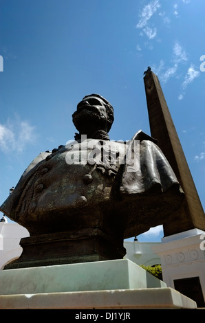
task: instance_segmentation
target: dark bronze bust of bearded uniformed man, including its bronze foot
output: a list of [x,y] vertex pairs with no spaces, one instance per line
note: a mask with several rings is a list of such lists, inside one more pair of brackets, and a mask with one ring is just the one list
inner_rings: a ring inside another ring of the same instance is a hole
[[86,96],[72,117],[74,142],[36,157],[1,205],[30,232],[21,239],[20,258],[6,269],[123,258],[124,238],[163,224],[183,203],[152,137],[138,131],[129,142],[131,154],[139,144],[138,168],[128,163],[127,143],[109,140],[114,109],[105,98]]

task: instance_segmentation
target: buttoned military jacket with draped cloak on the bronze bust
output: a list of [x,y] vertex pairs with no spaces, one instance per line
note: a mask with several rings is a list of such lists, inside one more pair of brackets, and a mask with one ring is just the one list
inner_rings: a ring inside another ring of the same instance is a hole
[[112,219],[127,238],[162,224],[182,199],[169,162],[155,140],[139,131],[128,143],[89,139],[40,153],[1,211],[31,235],[106,230],[106,219]]

